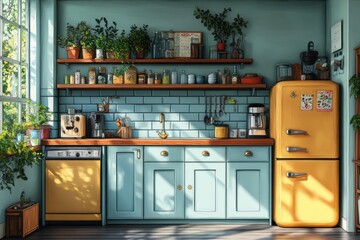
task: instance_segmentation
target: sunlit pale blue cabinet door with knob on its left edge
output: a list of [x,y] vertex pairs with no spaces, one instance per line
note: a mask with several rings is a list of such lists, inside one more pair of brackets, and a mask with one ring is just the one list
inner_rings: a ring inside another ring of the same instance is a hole
[[185,163],[185,218],[225,218],[225,163]]

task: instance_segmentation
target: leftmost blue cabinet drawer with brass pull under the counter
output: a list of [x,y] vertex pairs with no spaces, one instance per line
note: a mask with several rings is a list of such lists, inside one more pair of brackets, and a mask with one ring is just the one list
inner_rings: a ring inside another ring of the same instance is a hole
[[145,147],[145,162],[183,162],[184,147],[151,146]]

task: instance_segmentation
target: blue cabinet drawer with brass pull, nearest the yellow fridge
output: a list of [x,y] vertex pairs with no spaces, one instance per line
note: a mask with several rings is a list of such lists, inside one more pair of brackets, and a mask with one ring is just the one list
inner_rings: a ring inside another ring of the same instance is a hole
[[239,146],[227,147],[228,162],[239,161],[258,161],[268,162],[271,159],[271,149],[269,146]]

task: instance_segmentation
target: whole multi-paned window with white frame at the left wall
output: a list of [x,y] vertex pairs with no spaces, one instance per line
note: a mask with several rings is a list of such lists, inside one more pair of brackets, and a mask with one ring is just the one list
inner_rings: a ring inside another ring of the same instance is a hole
[[29,1],[1,0],[0,132],[21,114],[29,97]]

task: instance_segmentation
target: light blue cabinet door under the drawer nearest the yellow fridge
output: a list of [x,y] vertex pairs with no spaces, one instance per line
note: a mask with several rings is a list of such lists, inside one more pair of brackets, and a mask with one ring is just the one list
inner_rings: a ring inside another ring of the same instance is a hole
[[269,218],[269,183],[268,163],[228,163],[227,218]]

